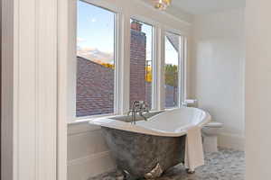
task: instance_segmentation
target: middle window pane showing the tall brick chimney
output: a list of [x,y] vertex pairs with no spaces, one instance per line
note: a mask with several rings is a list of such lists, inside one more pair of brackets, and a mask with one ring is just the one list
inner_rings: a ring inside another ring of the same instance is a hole
[[131,19],[130,106],[145,101],[153,106],[153,26]]

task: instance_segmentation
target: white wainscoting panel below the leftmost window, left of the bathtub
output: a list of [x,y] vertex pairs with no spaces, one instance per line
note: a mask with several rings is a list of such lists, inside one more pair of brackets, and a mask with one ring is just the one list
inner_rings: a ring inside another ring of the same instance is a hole
[[88,180],[116,168],[98,126],[88,122],[68,126],[68,180]]

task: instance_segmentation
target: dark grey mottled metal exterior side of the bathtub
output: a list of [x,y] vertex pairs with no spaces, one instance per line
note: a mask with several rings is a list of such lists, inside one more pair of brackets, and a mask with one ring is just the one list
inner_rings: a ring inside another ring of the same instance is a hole
[[161,137],[102,127],[117,168],[143,177],[157,163],[163,171],[183,162],[185,136]]

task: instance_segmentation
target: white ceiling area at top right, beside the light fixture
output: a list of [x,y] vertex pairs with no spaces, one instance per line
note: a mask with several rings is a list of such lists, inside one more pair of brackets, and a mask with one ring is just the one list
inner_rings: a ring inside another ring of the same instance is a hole
[[209,14],[245,7],[246,0],[172,0],[173,7],[189,14]]

